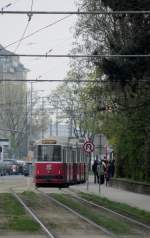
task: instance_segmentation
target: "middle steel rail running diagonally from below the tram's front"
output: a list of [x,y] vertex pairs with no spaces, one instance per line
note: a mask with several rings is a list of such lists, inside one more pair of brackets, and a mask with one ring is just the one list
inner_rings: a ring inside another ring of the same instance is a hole
[[67,205],[64,205],[63,203],[61,203],[60,201],[56,200],[55,198],[51,197],[50,195],[47,195],[46,193],[44,193],[43,191],[40,191],[39,189],[37,189],[39,193],[43,194],[43,196],[47,197],[49,200],[55,202],[56,204],[58,204],[59,206],[65,208],[66,210],[68,210],[69,212],[73,213],[74,215],[80,217],[82,220],[88,222],[89,224],[93,225],[94,227],[98,228],[99,230],[103,231],[105,234],[116,238],[116,236],[114,235],[114,233],[110,232],[109,230],[105,229],[104,227],[98,225],[97,223],[93,222],[92,220],[88,219],[87,217],[81,215],[80,213],[76,212],[75,210],[73,210],[72,208],[68,207]]

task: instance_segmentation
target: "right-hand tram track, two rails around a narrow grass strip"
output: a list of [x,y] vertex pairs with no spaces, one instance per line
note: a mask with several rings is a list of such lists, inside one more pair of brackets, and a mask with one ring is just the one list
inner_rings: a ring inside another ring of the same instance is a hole
[[[122,223],[126,223],[127,225],[128,225],[128,229],[130,230],[129,231],[129,233],[128,233],[128,235],[126,235],[125,237],[136,237],[136,238],[138,238],[138,237],[145,237],[145,238],[148,238],[148,237],[150,237],[149,236],[149,232],[150,232],[150,226],[148,226],[148,225],[146,225],[146,224],[144,224],[144,223],[141,223],[141,222],[139,222],[139,221],[137,221],[137,220],[135,220],[135,219],[133,219],[133,218],[130,218],[130,217],[127,217],[127,216],[125,216],[125,215],[122,215],[122,214],[120,214],[120,213],[117,213],[117,212],[114,212],[114,211],[112,211],[111,209],[108,209],[108,208],[105,208],[105,207],[102,207],[102,206],[99,206],[99,205],[97,205],[97,204],[95,204],[95,203],[93,203],[93,202],[90,202],[90,201],[88,201],[88,200],[86,200],[86,199],[83,199],[83,198],[81,198],[79,195],[77,195],[75,192],[72,192],[72,191],[70,191],[70,189],[63,189],[62,190],[63,191],[63,193],[67,196],[67,198],[70,196],[70,199],[73,199],[73,200],[77,200],[80,204],[82,204],[82,205],[84,205],[84,206],[86,206],[86,208],[87,208],[87,206],[88,206],[88,209],[89,209],[89,212],[90,212],[90,210],[94,210],[94,213],[97,213],[97,212],[99,212],[99,214],[100,214],[100,216],[101,216],[101,214],[102,214],[102,216],[104,215],[106,215],[106,217],[109,219],[113,219],[114,221],[116,220],[117,222],[118,222],[118,225],[119,225],[119,223],[120,222],[122,222]],[[39,190],[39,192],[41,192],[40,190]],[[54,198],[52,197],[52,196],[50,196],[49,194],[45,194],[44,192],[42,192],[42,194],[44,195],[44,196],[46,196],[46,197],[48,197],[50,200],[53,200]],[[102,225],[99,225],[99,224],[97,224],[95,221],[93,222],[93,220],[91,221],[90,219],[88,219],[87,217],[85,217],[85,216],[83,216],[83,215],[81,215],[81,213],[80,213],[80,211],[78,211],[79,209],[72,209],[72,208],[70,208],[70,206],[68,207],[68,206],[66,206],[66,203],[65,203],[65,205],[61,202],[60,203],[60,201],[56,201],[56,199],[54,199],[55,200],[55,202],[57,202],[58,204],[60,204],[61,206],[64,206],[66,209],[68,209],[69,211],[71,211],[71,212],[73,212],[73,213],[75,213],[76,215],[78,215],[78,216],[80,216],[80,217],[82,217],[82,219],[85,219],[85,220],[87,220],[89,223],[91,222],[91,224],[94,224],[95,226],[98,226],[98,228],[99,229],[102,229],[106,234],[108,234],[109,236],[111,236],[111,237],[124,237],[124,235],[125,234],[121,234],[121,233],[123,233],[123,232],[120,232],[120,234],[117,234],[117,232],[118,231],[116,231],[116,233],[114,234],[112,231],[111,231],[111,228],[110,229],[106,229],[106,228],[104,228],[105,227],[105,225],[104,226],[102,226]],[[58,199],[59,200],[59,199]],[[79,204],[79,206],[80,206],[80,204]],[[86,204],[86,205],[85,205]],[[103,216],[103,217],[104,217]],[[105,217],[104,217],[104,219],[105,219]],[[102,222],[102,224],[103,224],[103,222]],[[110,226],[111,227],[111,226]]]

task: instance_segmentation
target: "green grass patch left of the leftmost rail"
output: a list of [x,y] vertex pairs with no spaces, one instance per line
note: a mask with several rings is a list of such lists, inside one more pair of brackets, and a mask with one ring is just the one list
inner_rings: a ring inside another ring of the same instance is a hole
[[0,194],[0,229],[35,232],[40,226],[11,194]]

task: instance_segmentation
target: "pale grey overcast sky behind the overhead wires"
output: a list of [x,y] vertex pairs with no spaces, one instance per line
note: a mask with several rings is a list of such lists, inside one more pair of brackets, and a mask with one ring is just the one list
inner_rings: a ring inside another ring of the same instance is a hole
[[[5,6],[11,3],[9,7]],[[0,0],[0,8],[4,10],[27,10],[31,9],[32,0]],[[76,10],[74,0],[34,0],[33,10],[35,11],[73,11]],[[66,15],[33,15],[28,25],[25,36],[45,27]],[[23,54],[46,54],[52,50],[52,54],[67,54],[72,48],[73,26],[76,16],[72,15],[65,20],[48,27],[32,37],[21,41],[16,53]],[[25,31],[28,23],[26,15],[0,15],[1,38],[0,44],[4,47],[19,40]],[[18,44],[7,49],[14,52]],[[68,70],[69,59],[65,58],[20,58],[20,61],[30,70],[28,79],[56,79],[65,77]],[[56,84],[38,83],[34,86],[37,89],[52,89]]]

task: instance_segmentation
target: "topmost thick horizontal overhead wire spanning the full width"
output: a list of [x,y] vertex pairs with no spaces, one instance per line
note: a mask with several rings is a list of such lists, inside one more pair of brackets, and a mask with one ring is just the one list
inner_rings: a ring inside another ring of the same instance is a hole
[[150,14],[149,10],[126,10],[126,11],[7,11],[1,10],[1,14],[26,14],[29,16],[32,15],[62,15],[62,14],[71,14],[71,15],[118,15],[118,14]]

